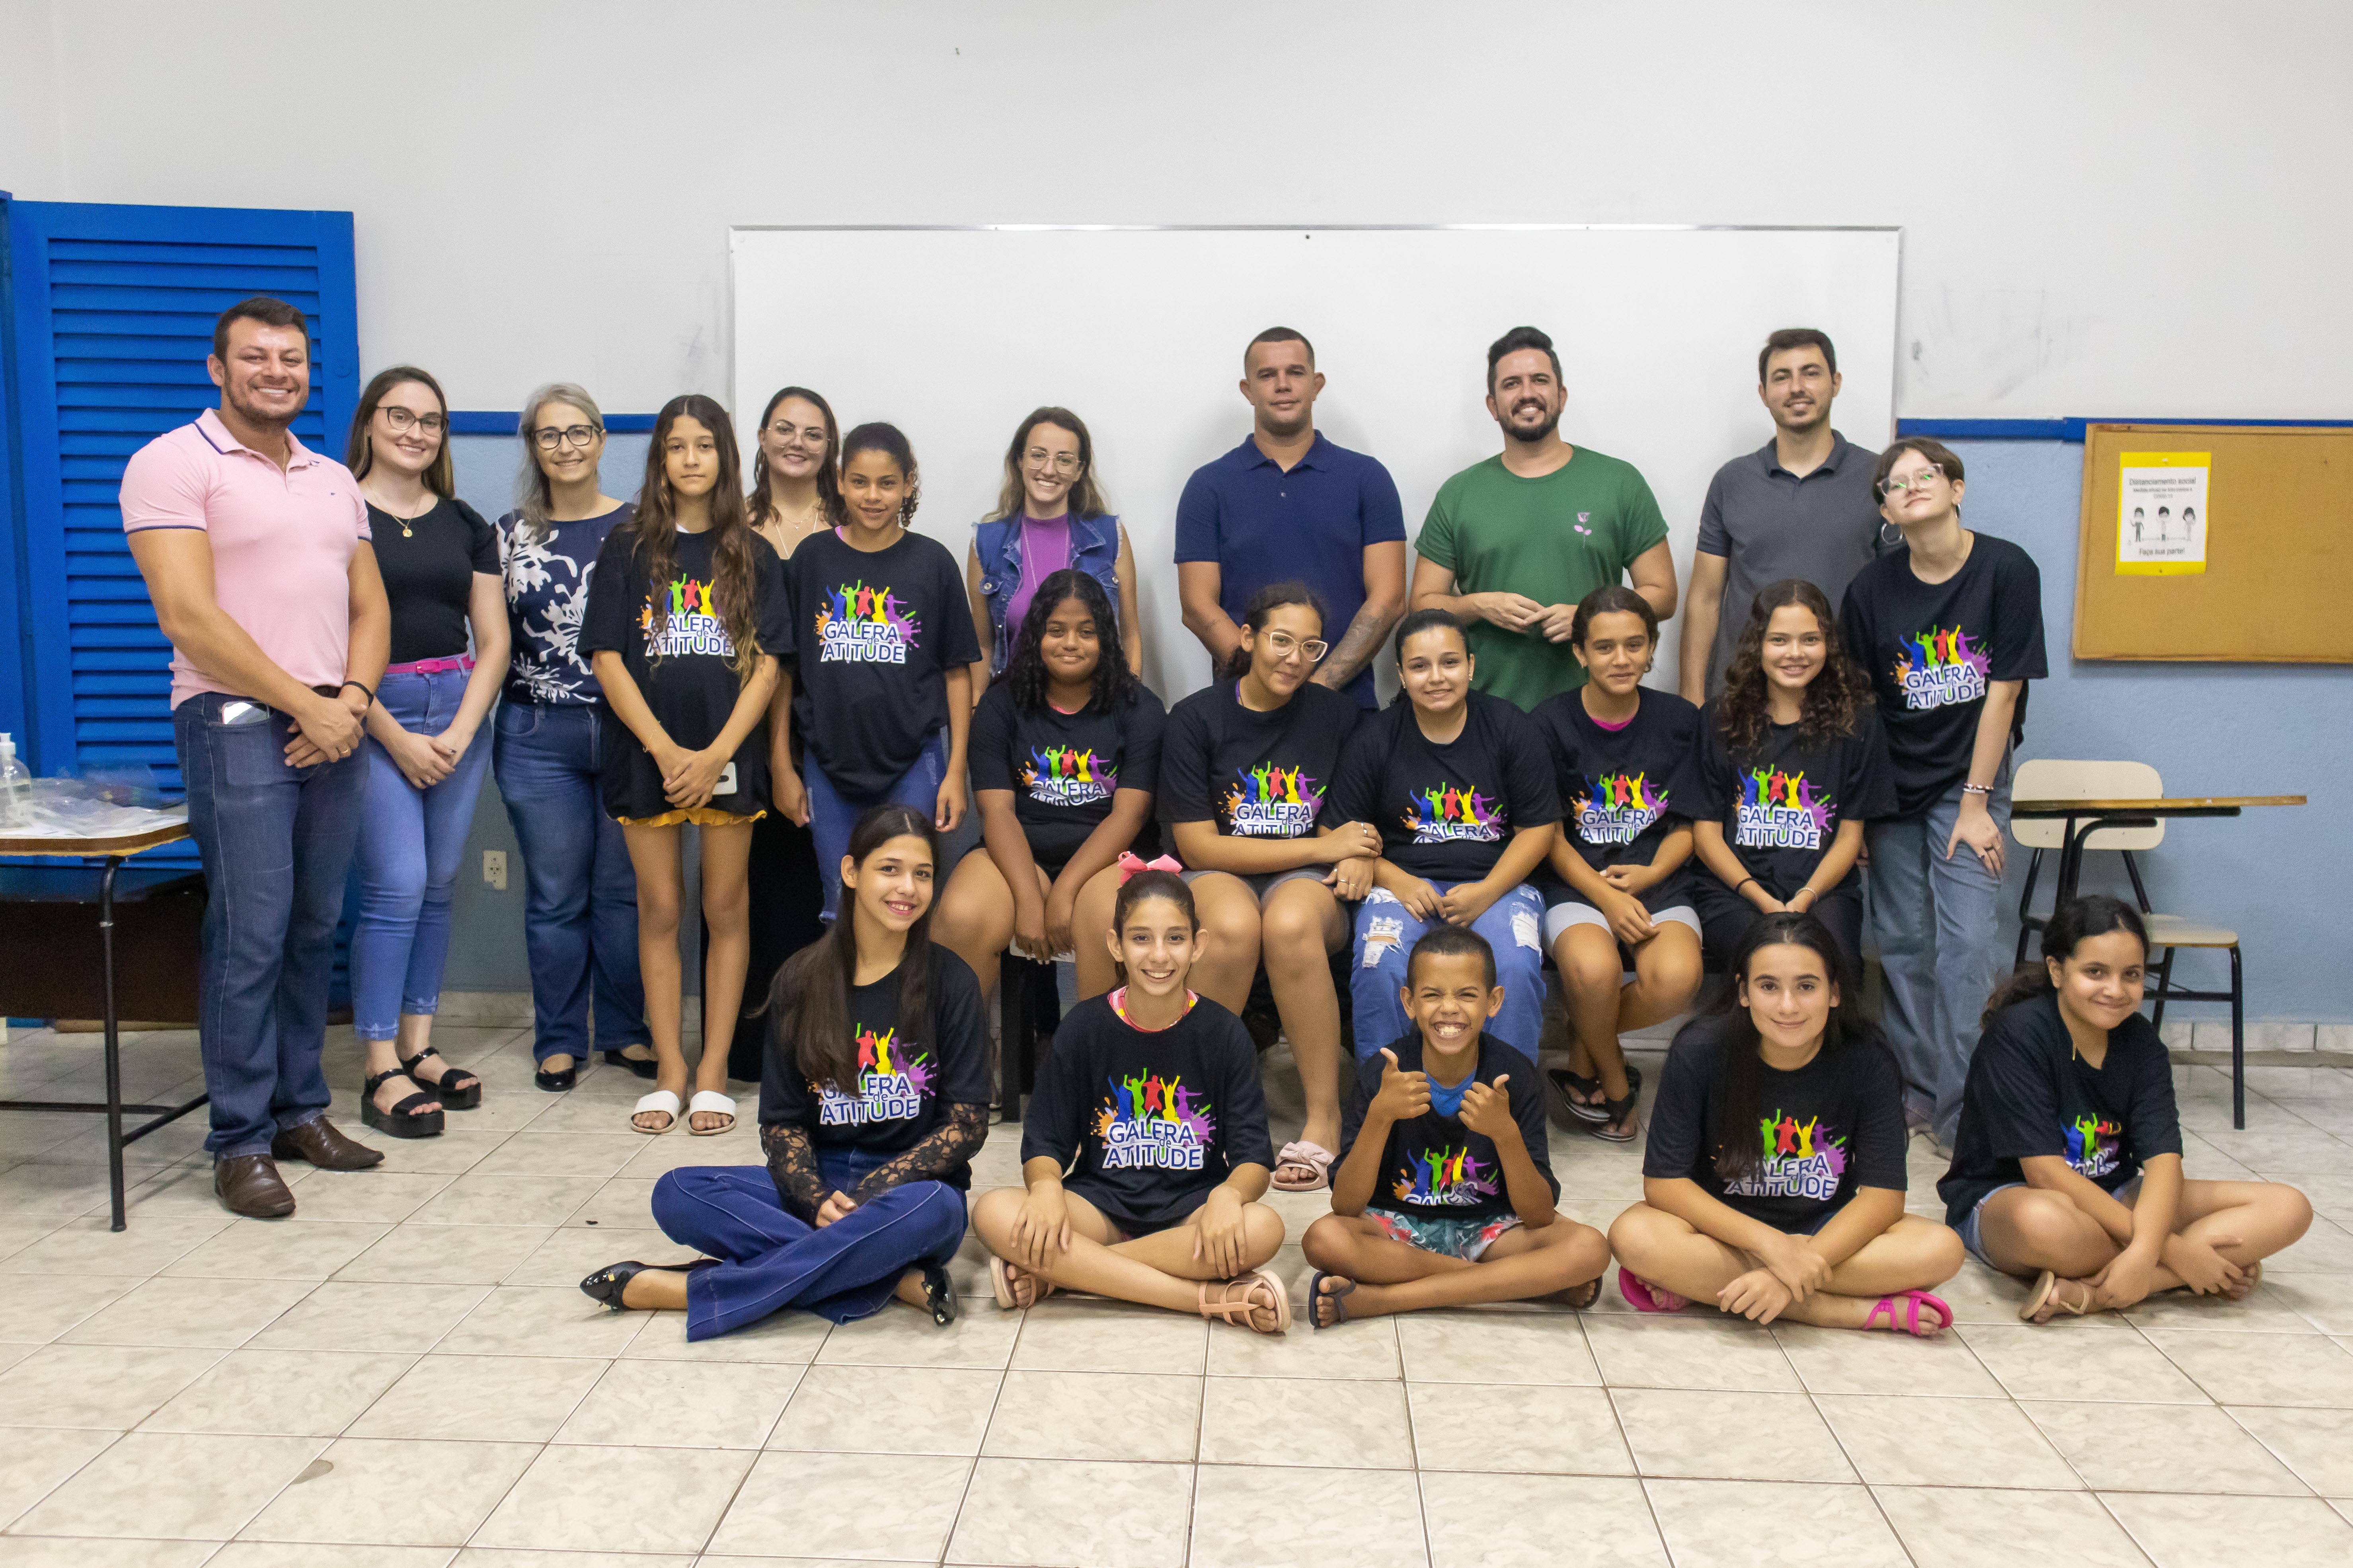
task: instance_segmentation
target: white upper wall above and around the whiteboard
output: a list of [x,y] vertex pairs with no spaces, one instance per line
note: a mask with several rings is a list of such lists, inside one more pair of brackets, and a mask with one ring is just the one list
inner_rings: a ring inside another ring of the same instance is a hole
[[2344,0],[0,0],[0,188],[348,207],[461,407],[725,393],[732,223],[1654,221],[1901,223],[1899,414],[2344,416],[2348,61]]

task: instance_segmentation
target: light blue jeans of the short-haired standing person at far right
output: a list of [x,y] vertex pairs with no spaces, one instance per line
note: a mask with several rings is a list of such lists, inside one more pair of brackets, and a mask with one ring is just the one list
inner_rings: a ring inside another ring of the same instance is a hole
[[[2009,832],[2009,759],[1986,797],[1993,825]],[[1960,818],[1960,785],[1927,816],[1871,823],[1871,936],[1887,976],[1880,1027],[1904,1070],[1904,1105],[1927,1117],[1944,1147],[1960,1128],[1960,1088],[1977,1053],[1977,1018],[2002,978],[2002,879],[1967,846],[1944,858]]]

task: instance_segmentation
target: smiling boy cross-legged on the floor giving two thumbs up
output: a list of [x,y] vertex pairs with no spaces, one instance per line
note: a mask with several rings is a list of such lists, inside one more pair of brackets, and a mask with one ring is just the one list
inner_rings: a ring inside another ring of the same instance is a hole
[[1301,1239],[1318,1328],[1351,1316],[1558,1300],[1591,1307],[1609,1241],[1553,1211],[1537,1063],[1485,1025],[1494,947],[1433,926],[1405,959],[1412,1032],[1358,1067],[1332,1213]]

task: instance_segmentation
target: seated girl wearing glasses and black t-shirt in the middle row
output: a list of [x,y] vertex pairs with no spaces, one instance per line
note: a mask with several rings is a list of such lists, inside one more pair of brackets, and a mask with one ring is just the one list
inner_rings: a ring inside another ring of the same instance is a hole
[[1329,1185],[1339,1147],[1339,990],[1329,954],[1372,886],[1381,832],[1334,823],[1325,792],[1358,722],[1353,696],[1313,679],[1325,614],[1306,583],[1268,583],[1207,691],[1169,712],[1160,820],[1200,900],[1200,990],[1240,1013],[1266,987],[1299,1060],[1306,1126],[1275,1154],[1275,1187]]

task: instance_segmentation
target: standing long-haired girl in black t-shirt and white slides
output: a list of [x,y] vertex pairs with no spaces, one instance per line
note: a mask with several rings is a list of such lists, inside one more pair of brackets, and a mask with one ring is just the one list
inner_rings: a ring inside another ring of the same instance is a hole
[[605,731],[605,809],[638,872],[638,969],[654,1037],[654,1093],[631,1126],[696,1135],[734,1126],[727,1051],[706,1048],[692,1105],[678,1044],[678,830],[701,830],[704,1039],[727,1039],[744,1006],[751,825],[767,809],[767,701],[788,644],[784,569],[744,517],[734,425],[701,395],[673,397],[645,451],[645,489],[598,552],[581,646],[619,724]]

